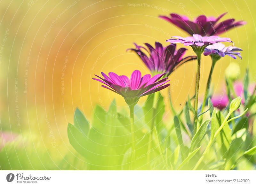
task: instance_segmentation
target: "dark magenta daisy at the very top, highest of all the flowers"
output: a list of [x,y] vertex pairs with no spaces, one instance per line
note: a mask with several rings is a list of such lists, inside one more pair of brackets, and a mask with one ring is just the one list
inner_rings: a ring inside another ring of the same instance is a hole
[[231,28],[244,25],[244,21],[235,21],[235,19],[226,19],[218,23],[218,21],[226,13],[221,14],[219,17],[206,17],[205,15],[200,15],[194,20],[189,20],[186,16],[181,16],[176,13],[171,13],[170,17],[159,16],[160,18],[174,24],[175,26],[186,31],[188,34],[200,34],[202,36],[219,35],[223,32],[230,30]]

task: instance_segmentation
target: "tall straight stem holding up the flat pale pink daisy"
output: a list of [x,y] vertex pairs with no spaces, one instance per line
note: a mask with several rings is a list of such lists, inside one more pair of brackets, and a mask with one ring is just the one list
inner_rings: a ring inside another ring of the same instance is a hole
[[196,97],[195,97],[195,118],[194,118],[194,134],[197,130],[197,105],[198,105],[198,92],[199,92],[199,81],[200,81],[200,66],[201,66],[201,54],[202,52],[196,52],[197,56],[197,74],[196,74]]

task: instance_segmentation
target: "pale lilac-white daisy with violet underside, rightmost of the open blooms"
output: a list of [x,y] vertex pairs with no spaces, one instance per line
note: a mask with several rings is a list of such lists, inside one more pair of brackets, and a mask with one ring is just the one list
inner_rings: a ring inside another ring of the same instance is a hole
[[228,46],[226,47],[222,43],[216,43],[213,45],[210,45],[204,49],[204,55],[208,56],[210,54],[216,55],[217,57],[225,57],[226,55],[236,59],[236,56],[242,59],[241,53],[237,51],[243,51],[240,48],[234,47],[234,46]]

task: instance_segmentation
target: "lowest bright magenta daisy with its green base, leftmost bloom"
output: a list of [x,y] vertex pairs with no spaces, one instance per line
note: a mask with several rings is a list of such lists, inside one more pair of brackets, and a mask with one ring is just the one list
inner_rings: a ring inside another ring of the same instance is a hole
[[101,72],[101,74],[103,78],[95,75],[99,79],[92,79],[107,85],[101,85],[102,87],[123,96],[128,105],[136,105],[140,97],[152,94],[170,85],[165,84],[166,82],[170,81],[167,80],[167,77],[160,80],[160,78],[163,77],[166,72],[163,74],[157,74],[151,78],[150,74],[146,74],[141,77],[140,71],[135,70],[132,72],[130,79],[125,75],[119,76],[113,72],[108,73],[109,77],[103,72]]

